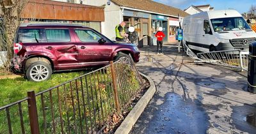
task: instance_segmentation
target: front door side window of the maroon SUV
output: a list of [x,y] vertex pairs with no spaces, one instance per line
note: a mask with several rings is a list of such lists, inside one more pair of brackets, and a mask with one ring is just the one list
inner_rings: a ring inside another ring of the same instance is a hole
[[83,42],[98,42],[102,36],[89,29],[76,29],[78,38]]

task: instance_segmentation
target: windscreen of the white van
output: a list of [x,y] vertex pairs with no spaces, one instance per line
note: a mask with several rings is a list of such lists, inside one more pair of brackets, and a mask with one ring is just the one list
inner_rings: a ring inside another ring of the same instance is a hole
[[215,32],[250,29],[250,26],[248,26],[243,17],[211,19],[211,22]]

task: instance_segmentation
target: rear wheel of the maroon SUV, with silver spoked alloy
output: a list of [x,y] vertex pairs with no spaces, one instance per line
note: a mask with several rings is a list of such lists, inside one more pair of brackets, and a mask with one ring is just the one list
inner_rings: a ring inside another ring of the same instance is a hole
[[49,80],[52,75],[51,66],[44,61],[36,61],[28,66],[26,70],[26,77],[30,81],[41,82],[44,80]]

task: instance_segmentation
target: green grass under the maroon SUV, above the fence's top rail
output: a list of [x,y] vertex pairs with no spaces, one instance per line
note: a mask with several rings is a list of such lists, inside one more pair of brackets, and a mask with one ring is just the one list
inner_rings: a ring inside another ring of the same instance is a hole
[[[30,82],[23,77],[0,79],[0,107],[25,98],[27,91],[35,90],[35,93],[57,86],[67,80],[79,77],[88,71],[75,71],[53,73],[50,80],[44,82]],[[7,73],[10,75],[11,73]],[[6,75],[0,71],[0,76]]]

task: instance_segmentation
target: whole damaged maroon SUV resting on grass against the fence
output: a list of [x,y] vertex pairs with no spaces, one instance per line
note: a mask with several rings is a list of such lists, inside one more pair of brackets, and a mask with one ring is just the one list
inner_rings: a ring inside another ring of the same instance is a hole
[[99,67],[131,55],[140,60],[135,45],[116,43],[99,32],[72,24],[23,24],[14,41],[12,67],[28,80],[47,80],[54,71]]

